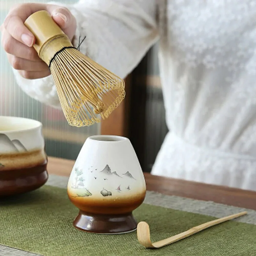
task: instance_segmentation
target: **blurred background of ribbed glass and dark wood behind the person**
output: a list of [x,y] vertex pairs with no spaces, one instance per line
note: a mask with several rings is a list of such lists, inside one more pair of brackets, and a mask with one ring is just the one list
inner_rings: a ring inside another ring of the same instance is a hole
[[[9,8],[21,2],[47,1],[0,0],[1,24]],[[112,134],[129,137],[143,170],[150,172],[167,133],[157,50],[158,45],[153,46],[126,78],[126,98],[108,119],[90,127],[76,128],[67,124],[62,111],[31,99],[18,88],[1,47],[0,115],[22,116],[42,122],[46,153],[49,156],[76,159],[83,142],[90,135]]]

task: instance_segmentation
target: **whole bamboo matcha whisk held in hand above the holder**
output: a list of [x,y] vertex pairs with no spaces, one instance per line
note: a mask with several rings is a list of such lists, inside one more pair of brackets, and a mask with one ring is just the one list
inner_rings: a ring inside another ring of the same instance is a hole
[[47,11],[32,14],[24,24],[49,66],[69,125],[90,126],[108,118],[125,97],[124,81],[73,47]]

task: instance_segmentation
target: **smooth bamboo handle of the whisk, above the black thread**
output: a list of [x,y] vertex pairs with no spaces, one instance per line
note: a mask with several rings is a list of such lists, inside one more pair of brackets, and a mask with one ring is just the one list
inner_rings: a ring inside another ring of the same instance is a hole
[[68,36],[54,22],[46,10],[30,15],[24,25],[34,34],[36,40],[34,48],[48,66],[56,52],[63,47],[72,47]]

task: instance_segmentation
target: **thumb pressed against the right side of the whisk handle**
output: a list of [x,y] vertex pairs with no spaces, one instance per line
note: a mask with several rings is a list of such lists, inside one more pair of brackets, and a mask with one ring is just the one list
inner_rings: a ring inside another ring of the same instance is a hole
[[51,12],[52,18],[63,30],[63,32],[69,37],[70,40],[73,39],[76,32],[76,19],[71,14],[67,8],[57,8]]

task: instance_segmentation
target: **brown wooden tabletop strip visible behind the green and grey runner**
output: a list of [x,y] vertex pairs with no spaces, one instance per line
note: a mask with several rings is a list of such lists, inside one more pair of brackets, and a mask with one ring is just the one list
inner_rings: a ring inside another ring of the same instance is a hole
[[[74,161],[54,157],[48,160],[49,174],[70,175]],[[256,210],[256,191],[165,178],[149,173],[144,173],[144,176],[149,191]]]

